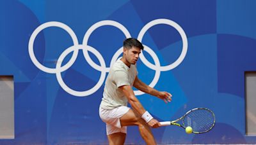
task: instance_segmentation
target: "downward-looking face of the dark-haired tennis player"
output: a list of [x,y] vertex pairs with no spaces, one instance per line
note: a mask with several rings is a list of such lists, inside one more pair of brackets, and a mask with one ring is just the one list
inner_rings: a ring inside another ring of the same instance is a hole
[[124,48],[125,59],[129,64],[136,64],[141,53],[140,48],[132,47],[131,49]]

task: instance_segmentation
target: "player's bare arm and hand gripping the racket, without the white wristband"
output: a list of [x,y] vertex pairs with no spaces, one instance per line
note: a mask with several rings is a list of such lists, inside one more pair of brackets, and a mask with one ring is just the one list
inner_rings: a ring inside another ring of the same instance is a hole
[[[141,105],[137,97],[134,95],[131,85],[123,85],[123,86],[119,86],[118,88],[124,93],[125,97],[127,97],[127,100],[129,104],[131,104],[132,109],[134,109],[136,113],[142,116],[146,112],[146,110]],[[148,125],[154,128],[161,127],[159,121],[155,120],[154,118],[148,121]]]

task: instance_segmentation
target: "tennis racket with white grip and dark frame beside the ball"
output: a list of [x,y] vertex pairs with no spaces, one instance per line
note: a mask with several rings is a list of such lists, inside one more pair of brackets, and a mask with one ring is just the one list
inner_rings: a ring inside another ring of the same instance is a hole
[[[180,122],[182,121],[182,122]],[[180,122],[180,123],[178,123]],[[191,127],[193,133],[202,134],[209,132],[215,125],[215,115],[207,108],[197,107],[188,111],[184,116],[174,121],[160,122],[162,126],[176,125],[182,128]]]

